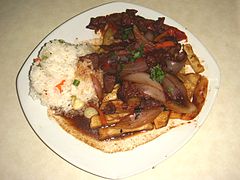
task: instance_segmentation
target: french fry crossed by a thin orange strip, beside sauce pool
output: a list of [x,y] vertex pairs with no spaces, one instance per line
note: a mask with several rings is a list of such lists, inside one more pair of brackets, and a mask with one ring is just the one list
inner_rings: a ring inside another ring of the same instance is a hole
[[[121,120],[122,117],[127,116],[129,113],[120,113],[120,114],[107,114],[105,118],[107,120],[107,125],[111,125],[117,123]],[[92,129],[96,129],[102,126],[100,116],[95,115],[91,118],[90,127]]]

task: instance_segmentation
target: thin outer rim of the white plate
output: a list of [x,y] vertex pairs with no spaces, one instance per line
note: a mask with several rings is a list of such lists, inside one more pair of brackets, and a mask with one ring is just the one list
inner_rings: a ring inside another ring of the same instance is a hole
[[[51,151],[53,151],[54,154],[56,154],[57,156],[59,156],[59,157],[60,157],[61,159],[63,159],[64,161],[68,162],[69,164],[73,165],[74,167],[76,167],[76,168],[78,168],[78,169],[80,169],[80,170],[83,170],[84,172],[87,172],[87,173],[90,173],[90,174],[92,174],[92,175],[95,175],[95,176],[98,176],[98,177],[102,177],[102,178],[109,178],[109,177],[107,177],[107,176],[102,176],[102,175],[93,173],[93,172],[91,172],[91,171],[89,171],[89,170],[86,170],[86,169],[84,169],[84,168],[82,168],[82,167],[79,167],[79,166],[75,165],[74,163],[72,163],[71,161],[67,160],[67,159],[64,158],[62,155],[60,155],[58,152],[56,152],[53,148],[51,148],[50,145],[48,145],[47,142],[45,142],[45,141],[41,138],[41,135],[39,135],[39,134],[36,132],[36,130],[33,128],[32,124],[30,123],[30,120],[28,119],[28,117],[27,117],[27,115],[26,115],[26,112],[25,112],[25,110],[24,110],[24,107],[23,107],[23,105],[22,105],[22,102],[21,102],[21,100],[20,100],[20,95],[19,95],[19,91],[18,91],[18,89],[19,89],[19,76],[21,75],[21,72],[22,72],[23,67],[26,65],[27,61],[29,60],[29,57],[30,57],[30,56],[33,54],[33,52],[39,47],[39,45],[40,45],[49,35],[51,35],[56,29],[58,29],[59,27],[61,27],[63,24],[67,23],[67,22],[70,21],[71,19],[74,19],[75,17],[80,16],[81,14],[84,14],[84,13],[87,12],[87,11],[90,11],[90,10],[93,10],[93,9],[97,9],[98,7],[105,6],[105,5],[108,5],[108,4],[119,4],[119,3],[120,3],[120,4],[125,4],[125,5],[133,5],[133,6],[136,6],[136,8],[137,8],[137,7],[146,8],[146,9],[148,9],[148,10],[151,10],[151,11],[154,11],[154,12],[157,12],[157,13],[160,13],[160,14],[162,14],[164,17],[167,17],[168,19],[171,19],[171,20],[173,20],[174,22],[176,22],[177,24],[179,24],[179,23],[178,23],[177,21],[175,21],[173,18],[171,18],[171,17],[169,17],[169,16],[166,16],[165,14],[161,13],[160,11],[156,11],[156,10],[153,10],[153,9],[151,9],[151,8],[145,7],[145,6],[143,6],[143,5],[135,4],[135,3],[127,3],[127,2],[113,1],[113,2],[107,2],[107,3],[99,4],[99,5],[97,5],[97,6],[88,8],[88,9],[86,9],[86,10],[84,10],[84,11],[81,11],[80,13],[78,13],[78,14],[70,17],[69,19],[65,20],[64,22],[62,22],[62,23],[60,23],[58,26],[56,26],[54,29],[52,29],[49,33],[47,33],[47,34],[39,41],[39,43],[35,46],[35,48],[30,52],[30,54],[27,56],[27,58],[25,59],[25,61],[24,61],[23,64],[21,65],[20,69],[18,70],[18,73],[17,73],[17,76],[16,76],[16,80],[15,80],[15,88],[16,88],[16,92],[17,92],[18,102],[19,102],[19,104],[20,104],[20,107],[21,107],[21,109],[22,109],[22,112],[23,112],[23,114],[24,114],[25,119],[27,120],[29,126],[31,127],[31,129],[33,130],[33,132],[37,135],[37,137],[38,137]],[[128,8],[128,7],[126,7],[126,9],[127,9],[127,8]],[[180,25],[181,25],[181,24],[180,24]],[[183,25],[181,25],[181,26],[184,27]],[[184,28],[185,28],[185,27],[184,27]],[[186,29],[186,28],[185,28],[185,29]],[[187,30],[187,29],[186,29],[186,30]],[[188,31],[188,30],[187,30],[187,31]],[[188,32],[190,32],[190,31],[188,31]],[[192,32],[190,32],[190,33],[193,35]],[[194,35],[193,35],[193,36],[194,36]],[[196,36],[194,36],[194,38],[196,38],[197,41],[199,41],[199,43],[203,45],[203,43],[202,43]],[[216,90],[216,92],[215,92],[215,94],[214,94],[213,100],[211,101],[210,108],[208,109],[208,112],[207,112],[206,116],[203,118],[203,119],[204,119],[203,122],[200,124],[200,126],[198,126],[197,128],[195,128],[195,129],[194,129],[194,132],[192,133],[192,135],[189,136],[188,138],[186,138],[185,141],[182,142],[182,145],[179,146],[178,149],[172,151],[172,152],[169,154],[169,156],[172,156],[173,154],[175,154],[175,153],[176,153],[179,149],[181,149],[191,138],[194,137],[194,135],[195,135],[196,132],[198,132],[199,128],[202,126],[202,124],[203,124],[203,123],[205,122],[205,120],[207,119],[207,116],[209,115],[209,113],[210,113],[210,111],[211,111],[211,109],[212,109],[212,107],[213,107],[213,105],[214,105],[214,102],[216,101],[217,94],[218,94],[218,92],[219,92],[220,81],[221,81],[221,73],[220,73],[219,66],[218,66],[217,62],[215,61],[215,58],[213,58],[212,54],[211,54],[211,53],[208,51],[208,49],[206,48],[206,46],[203,45],[203,47],[205,48],[205,50],[207,51],[207,53],[211,56],[211,58],[212,58],[212,60],[213,60],[213,63],[214,63],[214,65],[215,65],[215,68],[218,70],[218,72],[217,72],[218,77],[216,78],[216,79],[217,79],[217,82],[216,82],[217,84],[216,84],[216,85],[217,85],[217,88],[218,88],[218,89]],[[168,156],[168,157],[169,157],[169,156]],[[167,157],[167,158],[168,158],[168,157]],[[166,159],[167,159],[167,158],[166,158]],[[152,165],[152,167],[157,166],[159,163],[161,163],[161,162],[163,162],[163,161],[164,161],[164,160],[162,160],[162,161],[160,161],[160,162],[157,162],[156,164]],[[151,168],[151,167],[149,167],[149,168],[147,168],[147,169],[150,169],[150,168]],[[130,174],[130,175],[127,175],[127,176],[124,176],[124,177],[116,176],[115,178],[119,178],[119,177],[120,177],[120,178],[129,177],[129,176],[138,174],[138,173],[140,173],[140,172],[146,171],[147,169],[145,168],[145,169],[143,169],[143,170],[134,171],[134,173],[132,173],[132,174]],[[112,178],[114,179],[114,177],[110,177],[110,179],[112,179]]]

